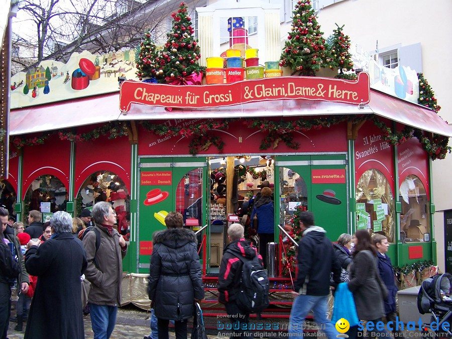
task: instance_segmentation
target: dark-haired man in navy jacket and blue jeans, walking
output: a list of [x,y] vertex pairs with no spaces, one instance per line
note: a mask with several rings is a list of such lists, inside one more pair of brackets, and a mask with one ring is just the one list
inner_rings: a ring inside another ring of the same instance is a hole
[[325,237],[326,231],[313,226],[314,215],[310,211],[299,214],[303,237],[298,246],[298,276],[294,283],[294,301],[289,319],[289,336],[303,336],[304,319],[309,310],[329,339],[338,332],[326,318],[329,294],[329,273],[333,272],[336,284],[341,282],[341,266],[336,261],[331,242]]

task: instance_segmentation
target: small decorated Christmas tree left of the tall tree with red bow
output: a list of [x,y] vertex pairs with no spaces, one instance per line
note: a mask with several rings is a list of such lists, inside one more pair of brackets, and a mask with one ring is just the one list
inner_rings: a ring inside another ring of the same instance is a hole
[[151,33],[148,31],[143,35],[143,41],[139,46],[139,53],[136,57],[137,62],[137,76],[140,80],[143,78],[155,79],[151,82],[163,82],[163,65],[165,60],[155,46],[151,39]]

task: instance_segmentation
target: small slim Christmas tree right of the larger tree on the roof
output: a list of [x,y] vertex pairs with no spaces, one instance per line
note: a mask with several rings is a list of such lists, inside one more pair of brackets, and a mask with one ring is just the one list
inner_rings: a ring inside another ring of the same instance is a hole
[[344,25],[342,25],[342,27],[339,27],[336,24],[336,26],[337,29],[333,30],[333,39],[330,45],[332,62],[329,68],[337,68],[339,70],[339,74],[335,76],[336,78],[355,80],[355,73],[344,73],[355,71],[353,69],[352,54],[350,54],[349,52],[350,37],[348,35],[345,35],[342,31],[344,29]]

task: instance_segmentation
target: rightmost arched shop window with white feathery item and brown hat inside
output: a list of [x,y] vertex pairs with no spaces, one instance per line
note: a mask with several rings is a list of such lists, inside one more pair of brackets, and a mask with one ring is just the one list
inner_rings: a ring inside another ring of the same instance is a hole
[[427,192],[420,179],[408,175],[400,184],[400,241],[430,241],[430,210]]

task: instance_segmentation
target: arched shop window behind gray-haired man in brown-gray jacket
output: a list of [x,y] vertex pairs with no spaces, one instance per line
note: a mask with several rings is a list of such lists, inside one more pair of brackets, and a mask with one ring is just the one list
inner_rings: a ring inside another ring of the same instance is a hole
[[124,181],[110,171],[99,171],[90,175],[82,184],[77,194],[75,216],[82,209],[92,207],[99,201],[111,202],[117,215],[118,232],[129,240],[130,195]]

